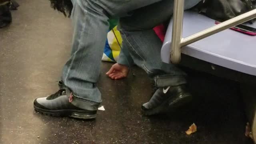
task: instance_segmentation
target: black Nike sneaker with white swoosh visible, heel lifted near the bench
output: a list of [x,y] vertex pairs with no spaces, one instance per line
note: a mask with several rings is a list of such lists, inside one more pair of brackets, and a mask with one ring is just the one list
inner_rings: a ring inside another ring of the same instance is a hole
[[187,92],[185,84],[158,88],[152,98],[142,105],[142,110],[145,115],[165,113],[191,100],[192,95]]

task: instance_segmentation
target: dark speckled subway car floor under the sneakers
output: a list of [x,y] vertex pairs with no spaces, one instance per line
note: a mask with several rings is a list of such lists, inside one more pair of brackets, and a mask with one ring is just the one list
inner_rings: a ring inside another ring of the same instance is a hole
[[[48,0],[17,0],[13,22],[0,29],[0,144],[252,144],[237,83],[189,70],[194,100],[166,115],[144,116],[150,80],[132,68],[123,80],[105,76],[98,87],[105,111],[95,120],[49,117],[34,112],[35,98],[58,90],[69,57],[70,19]],[[197,132],[186,135],[195,123]]]

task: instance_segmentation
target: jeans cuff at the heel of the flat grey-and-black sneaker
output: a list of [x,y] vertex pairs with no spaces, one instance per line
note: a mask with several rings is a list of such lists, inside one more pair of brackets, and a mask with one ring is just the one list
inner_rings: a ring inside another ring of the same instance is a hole
[[96,102],[93,100],[88,100],[86,98],[76,96],[72,94],[68,88],[65,88],[65,89],[66,89],[67,96],[72,96],[71,103],[74,106],[78,108],[82,108],[84,110],[98,110],[98,107],[100,106],[101,102]]

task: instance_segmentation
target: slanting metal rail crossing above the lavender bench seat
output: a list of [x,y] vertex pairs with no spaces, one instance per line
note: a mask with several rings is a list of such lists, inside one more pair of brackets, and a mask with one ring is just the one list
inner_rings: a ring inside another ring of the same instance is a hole
[[[211,36],[213,34],[216,34],[216,33],[220,32],[222,30],[226,30],[228,28],[236,26],[238,24],[242,24],[242,23],[244,23],[244,22],[246,22],[248,20],[251,20],[253,18],[256,18],[256,9],[255,10],[251,10],[250,12],[246,12],[246,13],[240,15],[240,16],[236,16],[235,18],[232,18],[230,20],[222,22],[222,23],[220,23],[220,24],[218,24],[216,26],[213,26],[211,28],[208,28],[208,29],[203,30],[201,32],[198,32],[196,34],[193,34],[192,36],[188,36],[187,38],[182,39],[180,47],[186,46],[188,44],[191,44],[193,42],[196,42],[198,40],[201,40],[201,39],[206,38],[208,36]],[[172,29],[172,30],[174,31],[174,29]],[[173,34],[173,32],[172,32],[172,34]],[[178,48],[178,46],[172,47],[172,48],[175,49],[175,48]],[[176,57],[176,56],[179,56],[179,55],[178,54],[176,55],[176,53],[175,53],[174,57]],[[176,57],[175,60],[176,59],[178,59],[178,57]]]

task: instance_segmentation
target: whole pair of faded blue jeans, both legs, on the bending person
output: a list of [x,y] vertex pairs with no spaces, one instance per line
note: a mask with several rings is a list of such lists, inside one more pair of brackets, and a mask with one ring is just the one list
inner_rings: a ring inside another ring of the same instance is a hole
[[[191,8],[199,1],[185,0],[185,8]],[[86,110],[97,110],[102,101],[96,83],[109,28],[108,20],[112,17],[120,18],[122,51],[126,51],[127,60],[132,58],[154,78],[156,86],[186,83],[184,72],[173,64],[161,61],[162,43],[152,30],[170,18],[173,0],[72,0],[72,3],[72,50],[62,72],[68,94],[72,92],[72,104]]]

